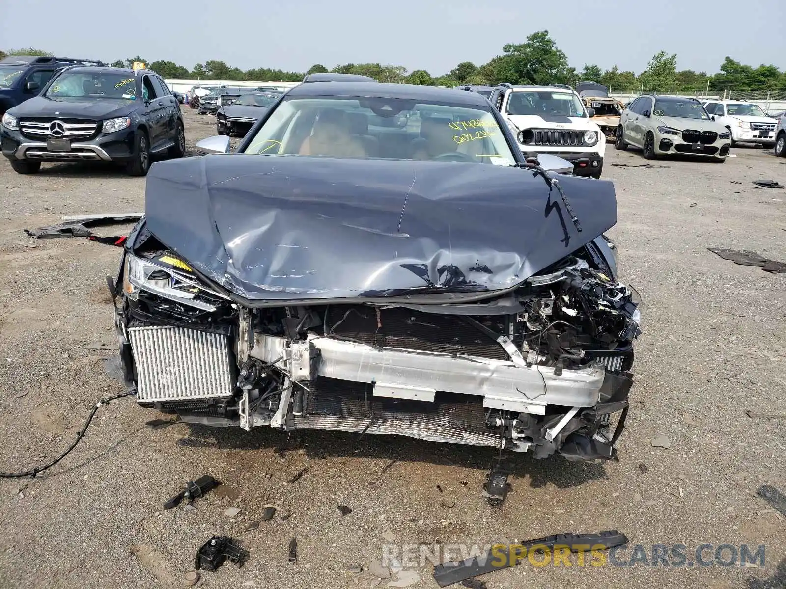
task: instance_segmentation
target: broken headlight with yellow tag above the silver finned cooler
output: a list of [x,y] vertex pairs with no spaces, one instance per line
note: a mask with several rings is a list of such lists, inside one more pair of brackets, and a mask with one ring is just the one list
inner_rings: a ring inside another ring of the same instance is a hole
[[[189,265],[174,256],[161,256],[159,260],[186,272],[191,271]],[[126,265],[123,269],[123,291],[133,301],[139,298],[140,291],[147,291],[171,301],[210,312],[215,311],[216,306],[198,300],[197,294],[212,294],[216,297],[226,298],[222,294],[208,290],[193,276],[178,272],[174,268],[166,268],[145,258],[137,258],[131,254],[127,255]]]

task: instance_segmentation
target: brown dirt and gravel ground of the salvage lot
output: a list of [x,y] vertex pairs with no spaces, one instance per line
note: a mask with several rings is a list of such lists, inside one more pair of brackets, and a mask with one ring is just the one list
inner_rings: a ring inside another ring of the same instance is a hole
[[[188,111],[186,120],[191,145],[215,130],[210,116]],[[648,561],[656,543],[685,544],[691,561],[702,543],[713,545],[703,553],[710,560],[720,544],[765,544],[766,565],[596,568],[573,558],[569,569],[525,564],[483,580],[491,589],[786,586],[786,526],[776,509],[786,514],[786,506],[757,496],[762,485],[786,493],[786,421],[746,415],[786,412],[786,275],[707,251],[786,261],[786,190],[751,184],[786,182],[786,160],[734,148],[724,165],[634,167],[645,162],[640,153],[609,147],[604,176],[619,199],[611,234],[623,278],[644,298],[645,322],[619,463],[518,456],[512,492],[494,509],[480,496],[494,459],[485,449],[349,434],[287,441],[266,428],[149,430],[145,422],[159,415],[125,398],[98,409],[85,441],[46,474],[0,479],[0,586],[182,587],[196,548],[229,535],[251,552],[248,565],[203,573],[204,587],[369,587],[375,578],[347,565],[367,566],[390,538],[482,546],[599,529],[629,537],[617,562],[629,562],[636,544]],[[115,342],[105,276],[116,273],[119,251],[76,238],[32,240],[23,229],[64,214],[141,210],[145,181],[77,164],[20,176],[2,158],[0,186],[0,470],[11,471],[58,455],[91,404],[120,391],[101,361],[111,352],[90,347]],[[669,448],[652,445],[659,434]],[[223,485],[196,510],[162,509],[201,474]],[[266,503],[280,508],[273,521],[245,531]],[[339,504],[353,513],[341,517]],[[227,516],[230,506],[240,514]],[[414,587],[436,587],[430,567],[415,570]]]

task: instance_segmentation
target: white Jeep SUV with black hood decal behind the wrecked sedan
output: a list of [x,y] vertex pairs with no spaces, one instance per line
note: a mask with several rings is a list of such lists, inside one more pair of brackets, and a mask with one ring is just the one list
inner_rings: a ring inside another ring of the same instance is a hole
[[606,137],[570,87],[500,84],[489,100],[524,155],[557,155],[573,164],[574,175],[601,177]]

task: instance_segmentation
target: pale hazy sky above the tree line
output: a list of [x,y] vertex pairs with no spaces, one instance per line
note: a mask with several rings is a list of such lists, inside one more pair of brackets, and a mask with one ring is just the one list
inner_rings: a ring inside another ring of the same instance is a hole
[[575,68],[639,73],[665,49],[678,69],[714,73],[727,55],[786,69],[784,16],[786,0],[0,0],[0,48],[189,69],[379,62],[441,75],[547,29]]

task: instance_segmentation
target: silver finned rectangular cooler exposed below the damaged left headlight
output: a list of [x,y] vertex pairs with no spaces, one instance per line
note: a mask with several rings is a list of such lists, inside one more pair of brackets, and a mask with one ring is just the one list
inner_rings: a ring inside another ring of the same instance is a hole
[[130,327],[137,401],[229,397],[233,390],[226,335],[183,327]]

